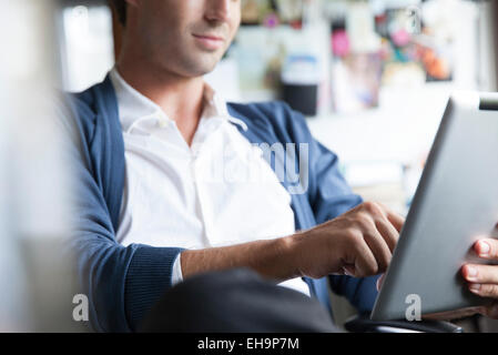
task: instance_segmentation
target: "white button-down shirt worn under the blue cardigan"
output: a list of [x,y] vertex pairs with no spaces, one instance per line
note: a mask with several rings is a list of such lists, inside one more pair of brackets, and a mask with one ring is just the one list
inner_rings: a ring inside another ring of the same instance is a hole
[[[116,240],[199,250],[291,235],[291,196],[205,85],[204,111],[192,145],[174,120],[111,71],[123,130],[126,176]],[[277,261],[275,261],[277,262]],[[180,256],[173,284],[182,281]],[[283,286],[309,295],[295,278]]]

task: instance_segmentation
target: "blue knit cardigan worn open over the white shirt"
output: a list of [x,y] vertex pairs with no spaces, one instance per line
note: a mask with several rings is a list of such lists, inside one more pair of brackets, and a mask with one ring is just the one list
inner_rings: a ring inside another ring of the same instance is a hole
[[[81,292],[90,300],[91,324],[99,332],[132,332],[171,287],[172,265],[182,250],[142,244],[125,247],[115,241],[125,160],[110,78],[82,93],[64,95],[59,108],[68,139],[64,153],[78,178],[72,214],[77,221],[70,250],[77,261]],[[237,129],[252,143],[295,143],[296,150],[301,143],[308,144],[308,161],[304,163],[309,179],[303,179],[307,190],[292,194],[297,230],[334,219],[362,202],[341,175],[337,156],[313,139],[304,118],[286,104],[231,103],[228,112],[246,123],[247,131]],[[272,154],[268,163],[274,170],[284,161],[281,155],[278,150]],[[293,186],[288,179],[282,184]],[[305,281],[312,294],[331,310],[327,278]],[[359,312],[372,310],[376,277],[329,276],[328,281],[332,290],[345,295]]]

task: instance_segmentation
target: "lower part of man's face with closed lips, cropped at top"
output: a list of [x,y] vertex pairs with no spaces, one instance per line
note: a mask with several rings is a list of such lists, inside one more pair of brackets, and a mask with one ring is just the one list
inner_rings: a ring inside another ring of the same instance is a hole
[[192,78],[214,69],[235,37],[241,0],[129,0],[140,50],[154,65]]

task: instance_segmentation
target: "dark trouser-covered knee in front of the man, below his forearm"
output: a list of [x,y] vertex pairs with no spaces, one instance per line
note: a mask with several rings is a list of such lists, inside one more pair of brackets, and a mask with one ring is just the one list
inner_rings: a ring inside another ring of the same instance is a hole
[[336,332],[318,301],[238,268],[207,273],[167,291],[140,332]]

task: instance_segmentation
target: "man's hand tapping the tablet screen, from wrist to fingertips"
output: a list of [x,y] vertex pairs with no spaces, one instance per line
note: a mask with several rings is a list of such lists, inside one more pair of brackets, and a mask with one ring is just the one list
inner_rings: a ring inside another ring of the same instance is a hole
[[385,206],[366,202],[315,229],[292,236],[295,265],[302,276],[347,274],[355,277],[386,271],[405,220]]

